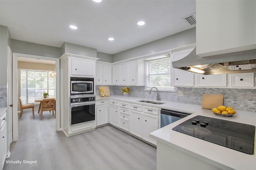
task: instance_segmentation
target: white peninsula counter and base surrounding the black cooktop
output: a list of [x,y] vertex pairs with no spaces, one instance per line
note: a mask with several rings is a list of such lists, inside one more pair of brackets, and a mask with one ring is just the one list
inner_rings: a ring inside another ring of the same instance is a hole
[[[210,109],[195,112],[150,133],[150,137],[157,140],[157,170],[165,169],[169,164],[172,164],[173,168],[190,170],[255,170],[255,142],[254,154],[250,155],[172,130],[173,127],[196,115],[256,125],[256,113],[252,112],[236,111],[232,117],[214,115]],[[185,160],[182,163],[177,158]]]

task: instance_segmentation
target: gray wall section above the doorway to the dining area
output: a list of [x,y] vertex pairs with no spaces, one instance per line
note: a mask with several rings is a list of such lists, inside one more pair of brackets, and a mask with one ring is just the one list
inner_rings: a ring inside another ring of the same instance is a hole
[[60,48],[12,39],[12,53],[60,58]]

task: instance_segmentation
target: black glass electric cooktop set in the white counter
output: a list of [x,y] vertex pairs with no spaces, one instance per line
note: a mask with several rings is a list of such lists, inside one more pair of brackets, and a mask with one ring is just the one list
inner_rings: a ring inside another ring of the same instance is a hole
[[172,130],[246,154],[254,154],[253,125],[198,115],[180,123]]

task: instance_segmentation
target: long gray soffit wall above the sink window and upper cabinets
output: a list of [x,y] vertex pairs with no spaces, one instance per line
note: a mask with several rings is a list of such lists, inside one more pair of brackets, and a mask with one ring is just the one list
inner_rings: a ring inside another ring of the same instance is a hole
[[166,51],[194,43],[196,43],[196,27],[116,53],[113,55],[113,62],[150,55],[152,53]]

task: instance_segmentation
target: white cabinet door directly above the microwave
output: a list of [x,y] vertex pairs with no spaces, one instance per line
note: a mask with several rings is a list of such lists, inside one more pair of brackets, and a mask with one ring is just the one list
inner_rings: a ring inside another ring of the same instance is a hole
[[95,61],[72,57],[71,74],[76,76],[94,76]]

